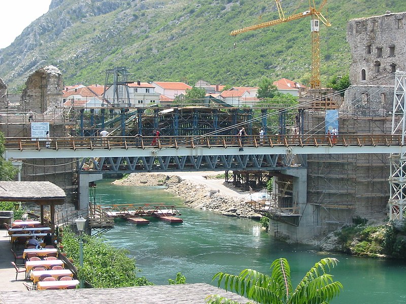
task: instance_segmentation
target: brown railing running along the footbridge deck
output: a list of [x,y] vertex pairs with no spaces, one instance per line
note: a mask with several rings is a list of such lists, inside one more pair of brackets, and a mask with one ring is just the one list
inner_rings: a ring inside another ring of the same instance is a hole
[[109,136],[109,137],[52,137],[49,147],[45,138],[8,137],[7,150],[25,149],[129,149],[196,148],[196,147],[259,147],[259,146],[401,146],[401,135],[214,135],[214,136]]

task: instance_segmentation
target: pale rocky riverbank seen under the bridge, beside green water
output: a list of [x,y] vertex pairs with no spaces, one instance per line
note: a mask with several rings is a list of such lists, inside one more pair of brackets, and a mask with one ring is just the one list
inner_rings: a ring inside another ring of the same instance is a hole
[[186,206],[229,216],[261,217],[260,214],[255,213],[245,204],[244,197],[223,194],[219,189],[208,186],[201,180],[182,180],[178,175],[131,173],[125,178],[114,181],[113,184],[136,186],[169,184],[170,187],[168,187],[167,191],[182,198]]

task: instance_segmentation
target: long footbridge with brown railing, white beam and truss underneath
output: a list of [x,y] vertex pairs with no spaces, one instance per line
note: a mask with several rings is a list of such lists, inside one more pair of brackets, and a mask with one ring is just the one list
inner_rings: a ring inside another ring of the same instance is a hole
[[401,135],[6,138],[6,159],[78,160],[81,174],[306,168],[307,154],[404,154]]

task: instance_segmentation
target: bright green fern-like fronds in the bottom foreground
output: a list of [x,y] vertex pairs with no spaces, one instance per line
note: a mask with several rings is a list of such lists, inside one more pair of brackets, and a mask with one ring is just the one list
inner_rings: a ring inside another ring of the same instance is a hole
[[[270,270],[270,276],[245,269],[240,275],[234,276],[219,272],[213,280],[218,280],[218,287],[224,284],[225,290],[245,296],[255,303],[273,304],[327,304],[339,295],[343,285],[333,281],[329,271],[338,260],[326,257],[318,261],[303,277],[295,289],[292,288],[290,266],[285,258],[276,259]],[[208,297],[208,303],[237,303],[218,295]]]

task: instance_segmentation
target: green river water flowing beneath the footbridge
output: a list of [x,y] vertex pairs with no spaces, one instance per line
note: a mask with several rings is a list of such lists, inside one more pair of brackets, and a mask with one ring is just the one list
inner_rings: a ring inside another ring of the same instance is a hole
[[[217,272],[239,274],[245,268],[270,274],[276,258],[289,261],[292,285],[323,257],[340,260],[331,274],[344,291],[330,303],[406,303],[406,262],[352,257],[320,252],[307,245],[275,240],[256,220],[227,217],[182,205],[162,187],[116,186],[111,180],[97,183],[96,203],[176,205],[184,222],[170,224],[151,219],[148,225],[116,220],[105,236],[115,247],[129,250],[145,276],[155,284],[167,284],[181,272],[187,283],[211,283]],[[212,284],[215,284],[214,282]]]

